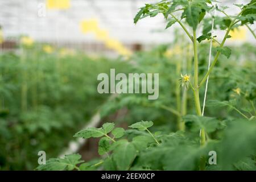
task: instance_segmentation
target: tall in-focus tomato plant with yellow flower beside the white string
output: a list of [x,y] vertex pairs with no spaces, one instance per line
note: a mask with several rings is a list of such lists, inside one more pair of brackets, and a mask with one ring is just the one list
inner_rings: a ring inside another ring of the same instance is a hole
[[[225,47],[224,44],[226,42],[226,39],[228,39],[229,32],[232,30],[232,28],[242,25],[247,25],[247,23],[254,23],[255,20],[255,5],[256,1],[251,1],[247,5],[236,5],[241,7],[240,13],[237,15],[229,16],[225,13],[226,7],[221,7],[220,9],[218,6],[213,6],[212,1],[161,1],[159,3],[156,3],[155,5],[147,4],[146,6],[142,7],[141,10],[138,12],[138,14],[134,18],[134,23],[137,23],[139,19],[145,18],[147,16],[154,17],[157,14],[161,13],[164,15],[164,18],[168,18],[168,16],[171,16],[171,20],[167,23],[166,28],[170,27],[174,23],[179,23],[181,28],[183,28],[185,34],[187,34],[188,38],[191,40],[193,44],[193,85],[189,81],[189,77],[187,75],[182,76],[183,84],[184,82],[189,82],[189,86],[191,86],[191,89],[193,90],[194,94],[194,100],[195,100],[195,109],[197,115],[201,116],[201,105],[200,105],[200,97],[199,97],[199,89],[204,84],[204,82],[207,80],[207,77],[212,72],[214,65],[217,63],[218,57],[220,54],[225,55],[226,57],[230,57],[231,49],[228,47]],[[178,9],[178,7],[180,7]],[[212,9],[217,9],[221,13],[225,14],[226,16],[224,18],[218,18],[217,24],[221,27],[222,30],[225,30],[225,36],[222,39],[221,42],[218,42],[215,37],[212,36],[211,33],[208,33],[210,31],[209,28],[209,22],[204,24],[203,32],[204,35],[199,36],[197,38],[197,29],[199,27],[199,24],[202,20],[204,20],[205,14],[209,13]],[[177,18],[177,16],[174,14],[178,11],[181,11],[181,17]],[[192,28],[192,34],[189,33],[188,29],[185,27],[184,23],[181,22],[181,20],[185,19],[185,22],[188,24],[189,27]],[[238,24],[239,23],[239,24]],[[248,27],[248,26],[247,26]],[[255,35],[254,35],[255,37]],[[205,73],[204,77],[201,81],[199,81],[199,59],[198,59],[198,50],[197,50],[197,41],[200,43],[202,40],[205,39],[213,39],[217,44],[218,47],[217,53],[214,57],[213,63],[210,65],[207,73]],[[202,128],[200,130],[200,144],[203,146],[206,142],[206,135],[205,130]],[[201,160],[201,169],[205,169],[205,161],[204,159]]]

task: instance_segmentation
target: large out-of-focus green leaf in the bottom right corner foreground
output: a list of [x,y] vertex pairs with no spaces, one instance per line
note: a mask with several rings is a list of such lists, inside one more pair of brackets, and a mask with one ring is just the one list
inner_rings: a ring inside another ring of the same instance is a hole
[[222,170],[233,169],[233,164],[240,162],[256,151],[256,123],[247,119],[228,122],[223,139],[218,144],[218,161]]

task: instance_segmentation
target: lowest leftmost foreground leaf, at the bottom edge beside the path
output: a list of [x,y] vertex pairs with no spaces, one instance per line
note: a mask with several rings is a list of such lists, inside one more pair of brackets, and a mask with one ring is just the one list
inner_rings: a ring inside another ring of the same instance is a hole
[[62,170],[73,170],[76,165],[84,162],[79,154],[65,155],[63,159],[52,158],[47,160],[46,164],[38,166],[36,169],[39,171],[62,171]]

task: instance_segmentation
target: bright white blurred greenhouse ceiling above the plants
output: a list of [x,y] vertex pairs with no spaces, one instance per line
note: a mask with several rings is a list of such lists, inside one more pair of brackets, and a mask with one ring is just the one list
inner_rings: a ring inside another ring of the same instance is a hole
[[[44,0],[1,0],[0,25],[6,37],[26,34],[42,42],[97,42],[92,33],[81,31],[82,22],[90,21],[97,22],[101,30],[123,43],[170,42],[173,29],[163,31],[166,22],[160,15],[143,19],[136,25],[133,23],[139,7],[152,2],[156,1],[63,0],[63,4],[56,7]],[[227,10],[229,13],[238,11],[238,7],[230,1],[222,3],[230,7]],[[251,38],[249,35],[243,40],[255,41]]]

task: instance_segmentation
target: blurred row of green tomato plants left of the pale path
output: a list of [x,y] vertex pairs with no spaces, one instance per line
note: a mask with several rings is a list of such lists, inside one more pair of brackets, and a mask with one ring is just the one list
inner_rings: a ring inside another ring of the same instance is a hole
[[90,57],[20,39],[0,55],[0,169],[34,169],[38,152],[59,155],[73,133],[84,127],[108,94],[98,94],[97,75],[121,59]]

